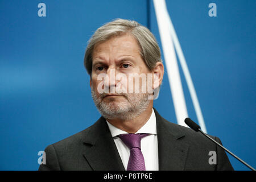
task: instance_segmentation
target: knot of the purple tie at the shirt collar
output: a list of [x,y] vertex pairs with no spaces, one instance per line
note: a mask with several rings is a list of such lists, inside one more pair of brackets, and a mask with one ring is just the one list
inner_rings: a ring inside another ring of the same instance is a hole
[[146,137],[147,135],[150,135],[150,134],[142,134],[142,133],[139,133],[139,134],[134,134],[134,133],[129,133],[129,134],[121,134],[121,135],[118,135],[118,137],[123,141],[123,143],[126,144],[126,146],[128,148],[139,148],[141,149],[141,139],[143,137]]

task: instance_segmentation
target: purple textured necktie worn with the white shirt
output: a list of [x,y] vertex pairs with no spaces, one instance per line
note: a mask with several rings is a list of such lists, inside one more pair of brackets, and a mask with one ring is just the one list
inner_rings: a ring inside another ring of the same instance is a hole
[[121,134],[119,138],[130,148],[127,171],[145,171],[145,163],[141,152],[141,139],[150,134]]

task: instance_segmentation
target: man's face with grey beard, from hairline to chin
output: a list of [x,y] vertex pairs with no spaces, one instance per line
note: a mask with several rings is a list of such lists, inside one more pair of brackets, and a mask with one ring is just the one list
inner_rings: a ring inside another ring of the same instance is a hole
[[[133,36],[117,36],[96,44],[92,60],[92,97],[105,118],[131,119],[146,110],[150,100],[147,92],[142,93],[142,87],[147,83],[139,81],[138,85],[135,80],[133,84],[130,81],[135,79],[135,73],[138,77],[151,71],[144,63]],[[139,90],[134,93],[136,86]],[[129,92],[131,89],[134,89],[133,93]]]

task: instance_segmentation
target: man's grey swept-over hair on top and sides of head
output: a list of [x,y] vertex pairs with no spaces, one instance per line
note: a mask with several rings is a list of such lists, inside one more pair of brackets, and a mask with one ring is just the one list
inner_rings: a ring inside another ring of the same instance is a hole
[[92,53],[95,44],[124,34],[131,34],[137,39],[141,47],[142,59],[151,71],[155,68],[156,62],[162,62],[158,43],[148,28],[134,20],[115,19],[98,28],[88,42],[84,56],[84,65],[90,76],[92,76]]

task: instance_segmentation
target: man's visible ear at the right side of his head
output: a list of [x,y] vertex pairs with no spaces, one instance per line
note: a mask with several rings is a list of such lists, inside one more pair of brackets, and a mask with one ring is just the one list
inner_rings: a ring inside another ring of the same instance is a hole
[[158,88],[163,81],[163,75],[164,75],[164,65],[162,62],[158,61],[154,68],[154,76],[153,76],[153,89]]

